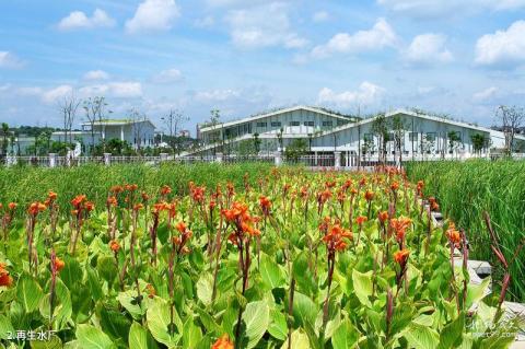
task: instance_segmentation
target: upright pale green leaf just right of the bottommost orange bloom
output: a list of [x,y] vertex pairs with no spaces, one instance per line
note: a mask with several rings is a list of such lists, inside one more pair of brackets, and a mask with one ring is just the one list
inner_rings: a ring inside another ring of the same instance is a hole
[[265,301],[248,303],[242,316],[245,328],[246,348],[254,348],[262,338],[270,324],[270,307]]

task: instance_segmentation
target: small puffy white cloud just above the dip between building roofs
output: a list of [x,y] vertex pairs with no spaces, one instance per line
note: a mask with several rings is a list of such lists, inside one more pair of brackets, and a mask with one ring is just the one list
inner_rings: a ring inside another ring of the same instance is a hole
[[381,101],[385,93],[385,89],[363,81],[355,91],[343,91],[336,93],[328,88],[319,91],[317,103],[324,105],[332,105],[340,108],[354,107],[357,104],[371,105]]

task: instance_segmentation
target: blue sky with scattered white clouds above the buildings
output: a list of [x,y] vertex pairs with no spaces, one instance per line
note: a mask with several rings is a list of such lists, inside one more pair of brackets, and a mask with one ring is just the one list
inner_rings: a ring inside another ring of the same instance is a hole
[[525,0],[3,0],[0,35],[11,125],[60,126],[71,94],[191,131],[293,104],[491,125],[525,97]]

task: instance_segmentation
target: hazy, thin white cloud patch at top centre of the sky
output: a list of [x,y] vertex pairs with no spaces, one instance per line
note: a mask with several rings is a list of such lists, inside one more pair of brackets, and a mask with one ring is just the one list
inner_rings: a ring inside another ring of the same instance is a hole
[[233,43],[243,48],[283,46],[300,48],[307,40],[292,31],[288,5],[272,2],[250,9],[233,10],[226,15]]

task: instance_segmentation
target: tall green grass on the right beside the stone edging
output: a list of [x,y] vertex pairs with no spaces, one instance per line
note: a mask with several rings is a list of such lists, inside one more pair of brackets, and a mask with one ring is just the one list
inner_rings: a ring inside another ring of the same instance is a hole
[[[425,194],[438,198],[446,217],[464,228],[471,257],[499,263],[490,248],[482,213],[489,212],[502,251],[512,253],[525,236],[525,162],[483,160],[410,163],[412,181],[425,181]],[[498,270],[495,270],[498,274]],[[525,253],[511,266],[511,298],[525,300]]]

